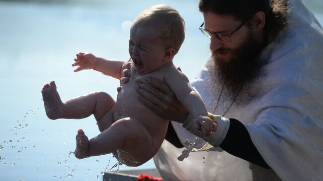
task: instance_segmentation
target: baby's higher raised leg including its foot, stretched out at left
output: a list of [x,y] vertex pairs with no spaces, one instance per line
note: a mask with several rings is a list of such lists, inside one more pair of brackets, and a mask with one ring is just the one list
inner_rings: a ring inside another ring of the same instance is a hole
[[113,115],[115,101],[107,93],[94,92],[64,103],[57,92],[55,82],[52,81],[43,87],[42,94],[46,115],[49,119],[82,119],[93,114],[96,121],[106,117],[103,119],[106,122],[101,123],[101,127],[107,128],[113,122],[113,117],[109,115]]

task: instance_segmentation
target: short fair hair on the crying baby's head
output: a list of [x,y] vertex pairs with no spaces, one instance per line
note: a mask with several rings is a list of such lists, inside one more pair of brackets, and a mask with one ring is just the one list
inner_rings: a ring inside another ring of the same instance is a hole
[[154,28],[159,31],[165,48],[175,49],[177,54],[185,38],[185,22],[178,11],[170,6],[159,4],[142,11],[134,20],[131,28]]

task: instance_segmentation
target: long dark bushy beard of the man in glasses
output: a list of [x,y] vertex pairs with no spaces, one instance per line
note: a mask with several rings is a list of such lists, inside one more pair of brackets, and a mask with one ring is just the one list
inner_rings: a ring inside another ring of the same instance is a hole
[[[216,52],[212,52],[215,65],[214,70],[218,75],[218,83],[227,89],[226,97],[231,100],[235,100],[238,97],[242,88],[244,94],[247,94],[245,96],[252,96],[254,94],[254,90],[247,86],[247,84],[250,85],[260,75],[261,67],[264,64],[260,59],[260,53],[265,45],[262,41],[256,40],[252,35],[252,33],[249,33],[244,42],[235,50],[226,48],[217,50],[229,52],[230,60],[218,58]],[[249,88],[245,90],[246,87]]]

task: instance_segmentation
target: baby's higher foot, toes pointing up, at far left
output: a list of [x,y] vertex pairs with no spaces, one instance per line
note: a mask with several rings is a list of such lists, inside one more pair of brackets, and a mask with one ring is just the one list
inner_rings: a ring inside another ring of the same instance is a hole
[[47,117],[51,120],[61,118],[63,115],[64,103],[57,92],[55,81],[44,85],[42,94]]

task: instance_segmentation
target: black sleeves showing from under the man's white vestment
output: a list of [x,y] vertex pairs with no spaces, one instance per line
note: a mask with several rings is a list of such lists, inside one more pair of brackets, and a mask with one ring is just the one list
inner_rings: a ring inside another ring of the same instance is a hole
[[[179,141],[178,136],[170,122],[168,124],[165,139],[177,148],[184,147]],[[262,168],[270,169],[259,154],[257,148],[252,143],[247,129],[244,127],[242,122],[238,120],[230,119],[228,133],[220,147],[231,155],[256,164]]]

